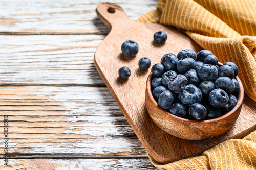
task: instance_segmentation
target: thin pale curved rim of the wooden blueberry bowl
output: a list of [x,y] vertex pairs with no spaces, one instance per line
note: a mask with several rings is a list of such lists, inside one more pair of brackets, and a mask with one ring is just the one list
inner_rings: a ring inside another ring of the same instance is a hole
[[[222,66],[223,64],[221,62],[218,62],[218,65]],[[239,86],[240,86],[240,91],[239,91],[239,96],[238,96],[238,102],[236,104],[236,106],[234,106],[234,108],[232,110],[230,110],[229,112],[227,112],[226,114],[217,117],[217,118],[213,118],[213,119],[208,119],[208,120],[189,120],[187,118],[182,118],[179,116],[176,116],[172,113],[167,112],[166,110],[164,110],[163,108],[161,108],[158,103],[155,101],[153,95],[152,95],[152,90],[151,90],[151,79],[152,79],[153,75],[152,72],[150,72],[150,74],[147,77],[146,80],[146,93],[148,95],[148,97],[150,98],[151,101],[153,101],[154,107],[157,107],[158,109],[161,110],[161,112],[168,114],[170,117],[174,118],[174,119],[179,119],[183,122],[187,122],[187,123],[197,123],[197,124],[205,124],[205,123],[218,123],[220,122],[220,120],[225,119],[226,117],[230,116],[231,114],[233,114],[239,107],[240,105],[242,105],[243,103],[243,99],[244,99],[244,87],[243,84],[241,82],[241,80],[239,79],[238,76],[236,76],[235,78],[237,79]]]

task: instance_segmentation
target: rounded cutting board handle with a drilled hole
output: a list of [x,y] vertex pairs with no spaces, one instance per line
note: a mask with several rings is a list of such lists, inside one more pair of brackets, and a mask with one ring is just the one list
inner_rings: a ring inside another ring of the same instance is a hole
[[131,21],[123,9],[116,3],[102,3],[98,5],[96,12],[98,17],[109,28],[112,28],[115,23],[119,23],[120,21],[126,23]]

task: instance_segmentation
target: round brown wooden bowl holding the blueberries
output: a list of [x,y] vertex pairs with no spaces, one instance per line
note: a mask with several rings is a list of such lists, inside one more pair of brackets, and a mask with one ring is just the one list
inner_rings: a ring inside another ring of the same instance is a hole
[[152,95],[151,79],[152,73],[146,81],[147,111],[157,126],[173,136],[188,140],[212,138],[228,131],[238,119],[244,99],[244,88],[238,77],[236,79],[240,85],[240,93],[237,105],[221,117],[201,121],[181,118],[159,107]]

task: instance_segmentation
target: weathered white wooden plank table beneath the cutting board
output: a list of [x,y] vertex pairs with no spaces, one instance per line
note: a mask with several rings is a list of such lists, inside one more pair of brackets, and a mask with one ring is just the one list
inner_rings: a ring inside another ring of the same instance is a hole
[[[110,29],[103,0],[1,1],[1,169],[157,169],[108,88],[93,56]],[[136,20],[157,0],[116,0]]]

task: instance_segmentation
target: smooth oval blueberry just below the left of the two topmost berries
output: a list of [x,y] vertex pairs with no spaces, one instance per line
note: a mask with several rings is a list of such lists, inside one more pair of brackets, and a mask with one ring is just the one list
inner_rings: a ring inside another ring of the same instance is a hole
[[177,69],[181,73],[185,73],[189,71],[190,69],[194,69],[196,66],[196,62],[193,58],[187,57],[182,60],[179,60],[177,63]]

